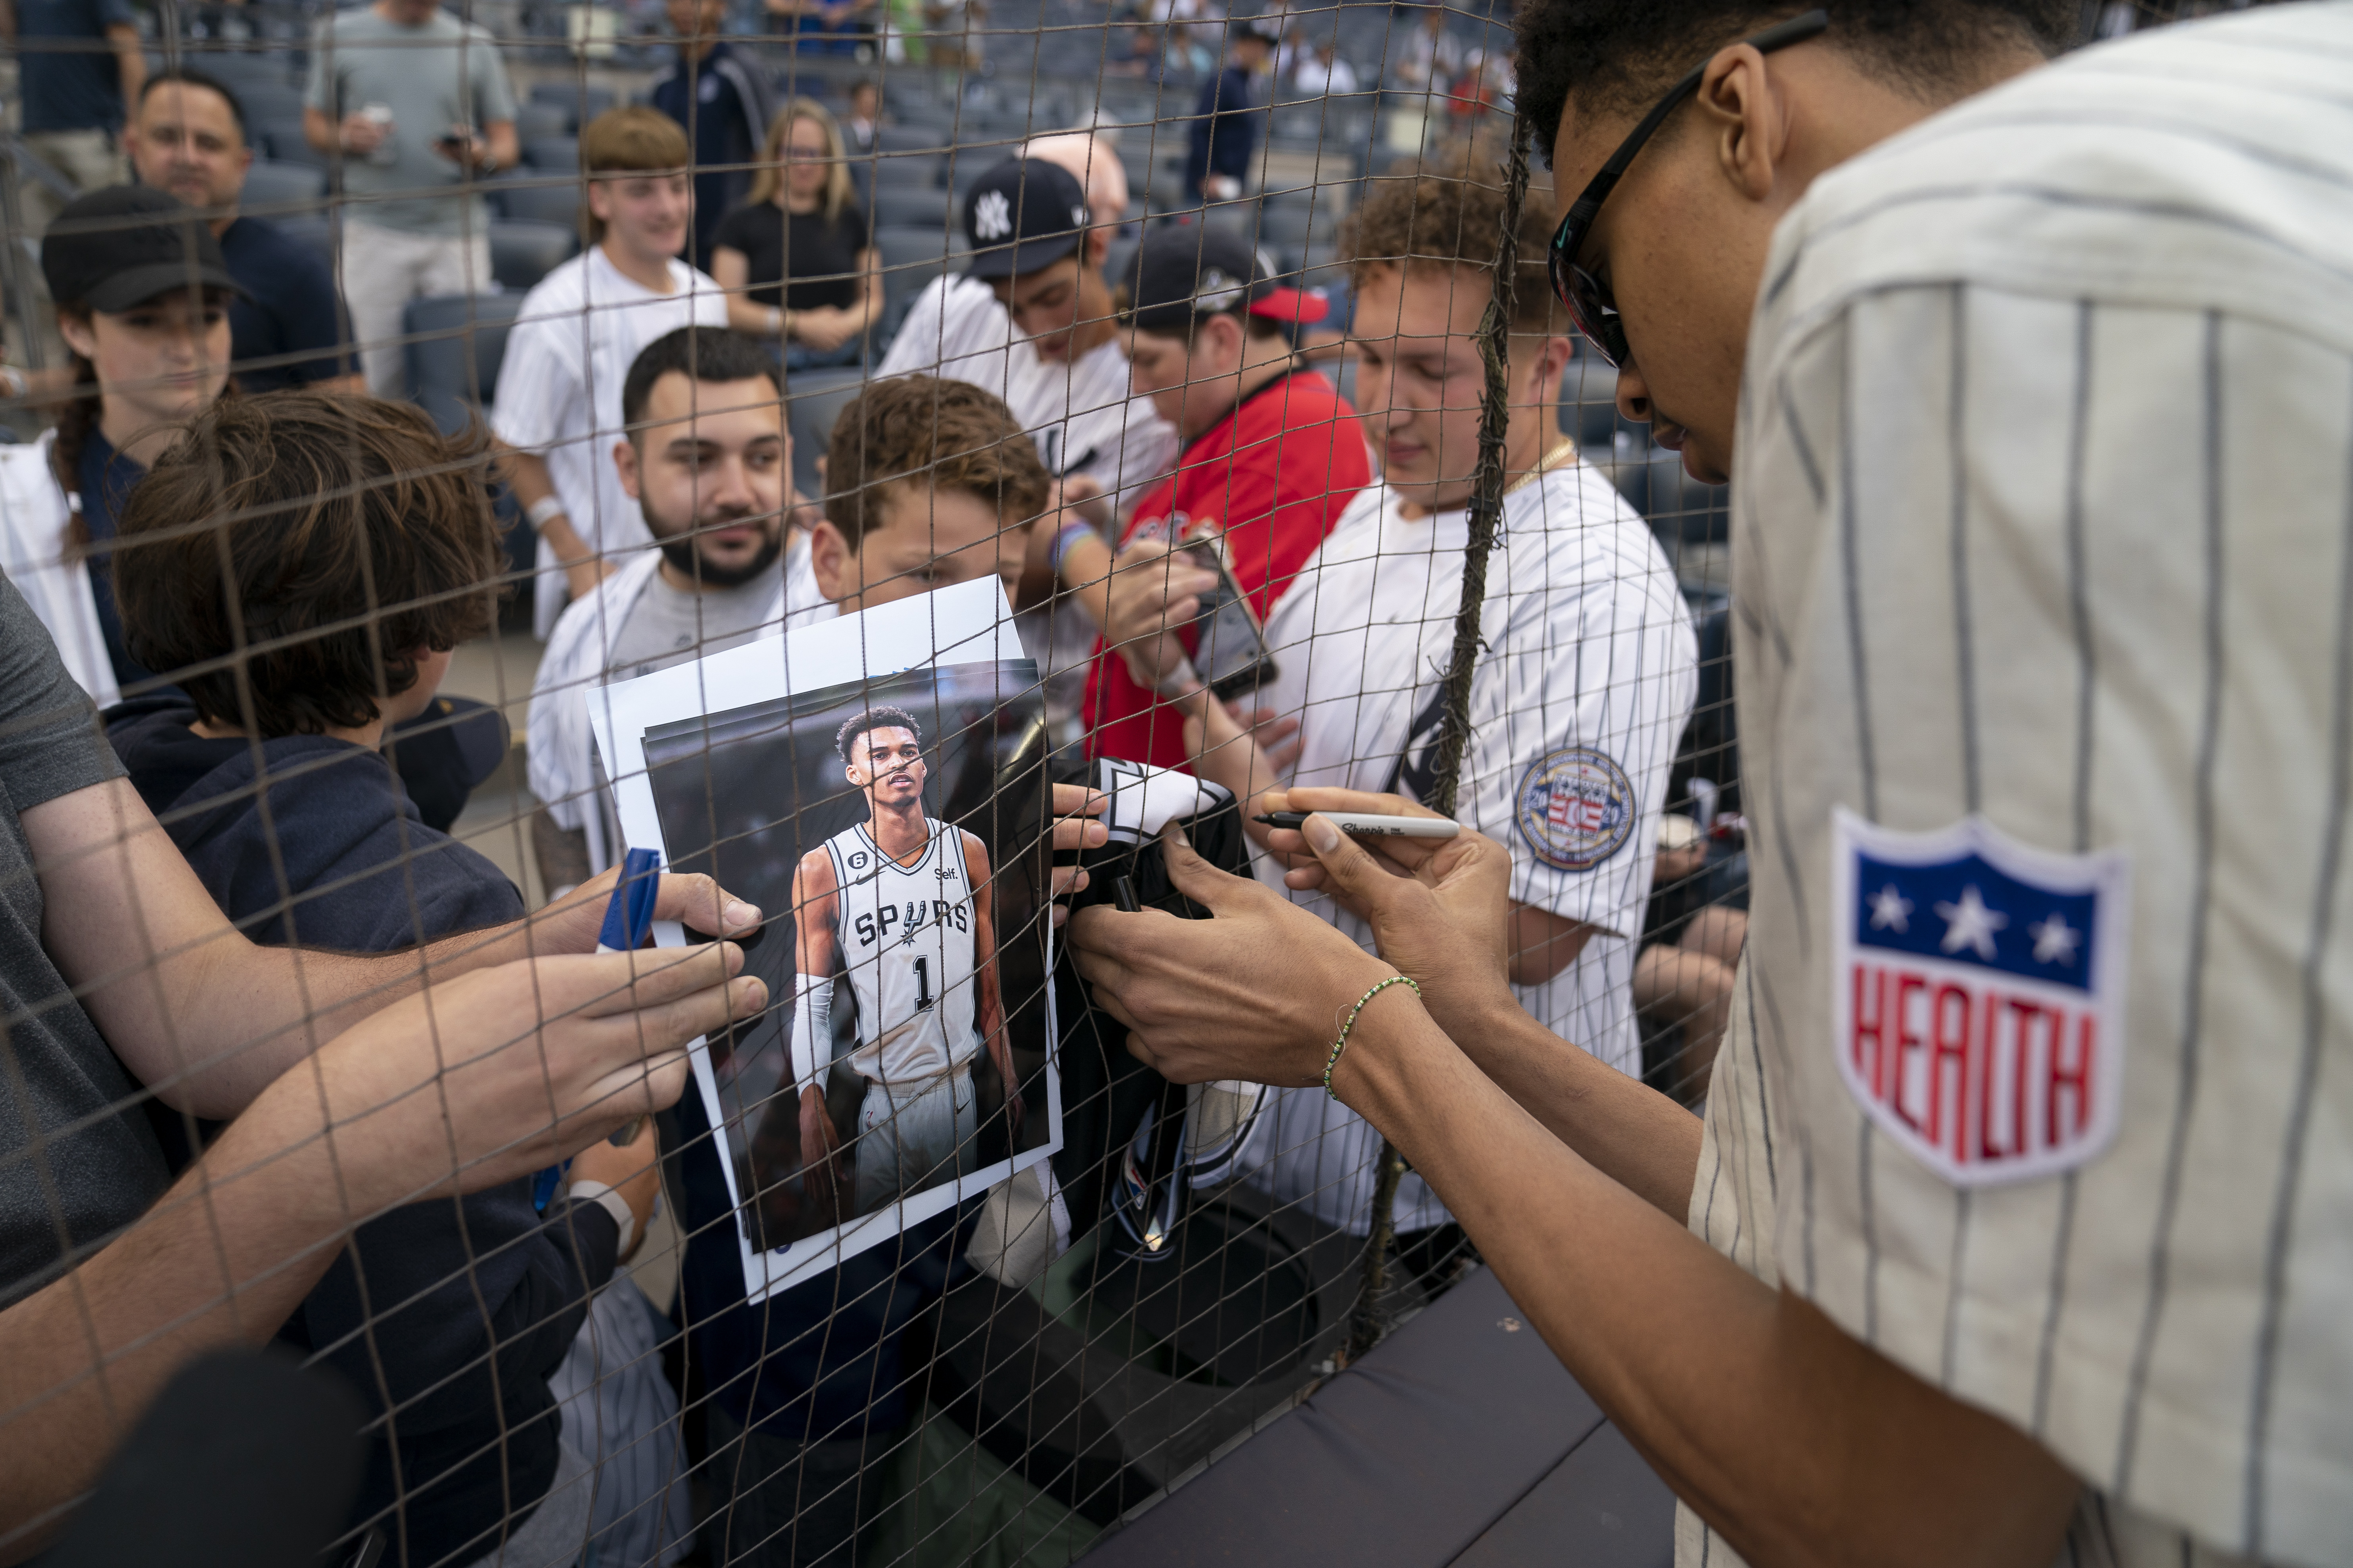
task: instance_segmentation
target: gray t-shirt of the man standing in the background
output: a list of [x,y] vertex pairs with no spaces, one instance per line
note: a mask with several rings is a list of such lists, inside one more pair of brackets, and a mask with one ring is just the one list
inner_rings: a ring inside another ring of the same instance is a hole
[[461,183],[459,167],[433,150],[452,127],[482,132],[515,118],[515,89],[499,42],[471,21],[433,12],[421,28],[386,21],[372,7],[334,12],[311,35],[304,103],[329,120],[369,103],[393,110],[393,134],[369,158],[344,158],[348,216],[419,235],[485,233],[480,195],[419,195]]

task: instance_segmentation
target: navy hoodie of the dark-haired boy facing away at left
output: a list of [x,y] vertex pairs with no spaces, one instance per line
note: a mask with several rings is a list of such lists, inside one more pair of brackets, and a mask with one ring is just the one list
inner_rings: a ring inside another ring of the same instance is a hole
[[[426,827],[379,752],[329,736],[256,750],[207,741],[193,722],[179,693],[134,698],[106,710],[106,738],[256,943],[388,952],[522,917],[515,884]],[[616,1244],[595,1204],[539,1215],[527,1180],[412,1204],[362,1225],[280,1331],[341,1371],[376,1418],[355,1519],[393,1537],[393,1561],[471,1561],[496,1544],[508,1486],[515,1526],[546,1495],[558,1455],[548,1375]]]

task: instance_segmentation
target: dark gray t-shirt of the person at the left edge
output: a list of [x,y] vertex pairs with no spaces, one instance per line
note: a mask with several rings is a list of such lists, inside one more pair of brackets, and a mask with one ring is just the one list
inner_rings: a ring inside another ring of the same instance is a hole
[[0,578],[0,1307],[49,1284],[169,1185],[139,1084],[40,945],[19,811],[120,778],[89,698]]

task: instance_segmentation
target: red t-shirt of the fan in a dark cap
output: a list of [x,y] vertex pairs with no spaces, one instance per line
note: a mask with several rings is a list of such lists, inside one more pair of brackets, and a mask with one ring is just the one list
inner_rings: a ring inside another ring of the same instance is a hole
[[[1268,381],[1214,430],[1186,447],[1176,473],[1136,503],[1120,545],[1160,534],[1193,538],[1224,529],[1233,578],[1264,623],[1355,491],[1372,461],[1355,409],[1315,371]],[[1184,632],[1193,651],[1193,632]],[[1087,755],[1181,769],[1184,715],[1162,708],[1094,639],[1087,670]]]

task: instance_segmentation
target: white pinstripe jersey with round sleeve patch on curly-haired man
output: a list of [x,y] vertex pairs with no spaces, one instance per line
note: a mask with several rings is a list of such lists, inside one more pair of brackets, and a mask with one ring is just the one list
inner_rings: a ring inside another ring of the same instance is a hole
[[[1468,536],[1468,512],[1407,517],[1374,484],[1275,602],[1275,679],[1259,705],[1299,719],[1287,783],[1428,788]],[[1480,635],[1457,816],[1511,846],[1515,903],[1598,926],[1567,969],[1513,994],[1562,1039],[1640,1072],[1633,959],[1666,776],[1699,686],[1689,611],[1642,520],[1609,480],[1569,461],[1504,498]],[[1261,858],[1257,870],[1282,889],[1280,865]],[[1374,945],[1329,896],[1289,898]],[[1271,1121],[1261,1180],[1362,1232],[1379,1133],[1322,1088],[1285,1091]],[[1407,1175],[1398,1227],[1445,1218]]]

